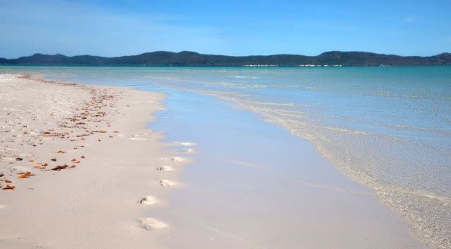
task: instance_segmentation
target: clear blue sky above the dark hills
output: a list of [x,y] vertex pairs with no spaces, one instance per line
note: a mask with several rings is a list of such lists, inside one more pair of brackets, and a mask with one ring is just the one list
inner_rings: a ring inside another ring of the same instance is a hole
[[0,57],[156,50],[428,56],[451,52],[451,1],[0,0]]

